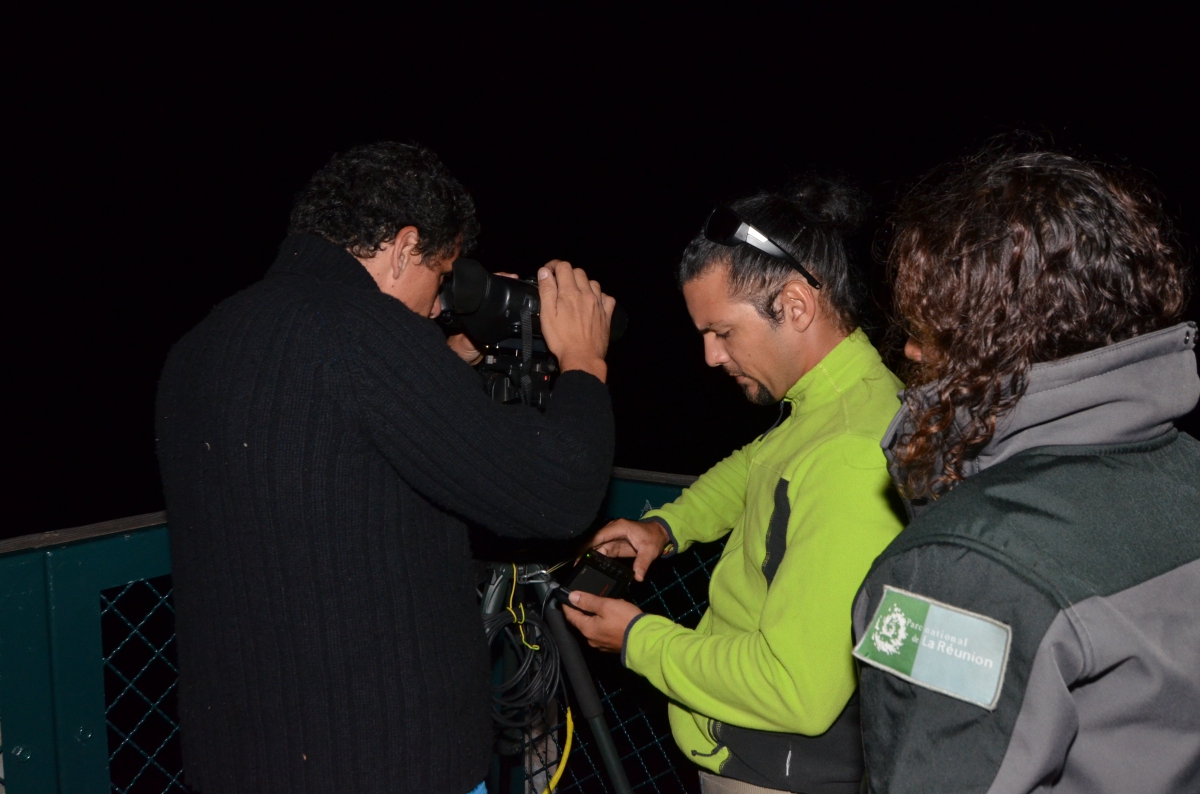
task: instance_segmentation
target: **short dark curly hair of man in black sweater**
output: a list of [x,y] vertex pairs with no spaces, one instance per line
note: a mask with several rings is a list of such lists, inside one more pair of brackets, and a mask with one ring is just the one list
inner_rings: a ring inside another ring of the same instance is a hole
[[384,142],[334,155],[313,174],[292,207],[288,234],[316,234],[370,257],[407,225],[420,234],[418,252],[436,257],[468,253],[479,235],[470,194],[437,155]]

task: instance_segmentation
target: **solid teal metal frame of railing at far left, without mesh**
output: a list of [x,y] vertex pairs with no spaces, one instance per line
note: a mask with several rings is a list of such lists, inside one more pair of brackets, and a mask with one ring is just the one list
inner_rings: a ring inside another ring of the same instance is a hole
[[109,715],[118,714],[106,697],[113,662],[102,631],[113,610],[102,603],[114,589],[169,573],[163,513],[0,541],[6,794],[114,790]]

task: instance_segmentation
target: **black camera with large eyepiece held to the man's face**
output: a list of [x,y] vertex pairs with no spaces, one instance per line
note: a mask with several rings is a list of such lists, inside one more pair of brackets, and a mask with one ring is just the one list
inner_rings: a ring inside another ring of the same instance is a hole
[[[478,369],[492,399],[545,410],[558,377],[558,360],[541,336],[538,282],[490,273],[474,259],[455,259],[439,300],[443,327],[449,333],[466,333],[484,355]],[[610,342],[628,325],[629,317],[618,306],[612,313]]]

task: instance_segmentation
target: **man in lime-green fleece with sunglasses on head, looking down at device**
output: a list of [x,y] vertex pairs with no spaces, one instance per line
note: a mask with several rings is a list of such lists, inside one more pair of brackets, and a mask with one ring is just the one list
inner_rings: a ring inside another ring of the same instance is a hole
[[[620,651],[671,700],[676,741],[706,794],[857,794],[863,777],[851,604],[901,529],[880,439],[900,381],[857,329],[859,294],[844,235],[857,194],[811,180],[713,212],[679,282],[704,337],[755,403],[780,421],[642,521],[595,536],[634,557],[642,579],[662,554],[728,534],[695,630],[583,593],[568,618]],[[586,614],[586,613],[592,613]]]

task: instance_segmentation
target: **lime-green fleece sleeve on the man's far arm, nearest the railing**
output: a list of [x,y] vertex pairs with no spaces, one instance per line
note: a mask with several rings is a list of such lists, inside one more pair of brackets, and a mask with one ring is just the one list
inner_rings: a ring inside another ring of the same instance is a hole
[[746,479],[750,475],[748,450],[751,446],[733,452],[702,474],[678,499],[649,511],[642,519],[664,521],[671,528],[676,552],[724,536],[745,510]]

